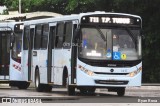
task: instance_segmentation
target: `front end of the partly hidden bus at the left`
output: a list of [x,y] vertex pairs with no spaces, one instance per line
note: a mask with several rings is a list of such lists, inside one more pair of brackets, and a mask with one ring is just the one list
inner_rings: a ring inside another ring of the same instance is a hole
[[12,25],[13,36],[11,36],[11,50],[10,50],[10,86],[16,86],[19,89],[27,89],[30,85],[25,80],[25,75],[21,69],[21,48],[22,48],[22,31],[23,22],[15,22]]

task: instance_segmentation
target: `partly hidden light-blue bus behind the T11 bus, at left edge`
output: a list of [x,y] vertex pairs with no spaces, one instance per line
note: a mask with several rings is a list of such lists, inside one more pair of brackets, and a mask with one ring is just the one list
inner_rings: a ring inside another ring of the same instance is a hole
[[19,66],[22,30],[22,22],[0,23],[0,83],[9,83],[10,86],[17,86],[20,89],[29,86],[29,83],[23,81],[23,73]]

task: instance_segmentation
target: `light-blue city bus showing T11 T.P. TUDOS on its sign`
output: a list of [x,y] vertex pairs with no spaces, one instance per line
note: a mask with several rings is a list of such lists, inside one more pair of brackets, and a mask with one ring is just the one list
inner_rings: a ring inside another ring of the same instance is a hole
[[94,93],[107,88],[119,96],[141,86],[141,17],[89,12],[24,22],[22,70],[37,91],[67,86]]

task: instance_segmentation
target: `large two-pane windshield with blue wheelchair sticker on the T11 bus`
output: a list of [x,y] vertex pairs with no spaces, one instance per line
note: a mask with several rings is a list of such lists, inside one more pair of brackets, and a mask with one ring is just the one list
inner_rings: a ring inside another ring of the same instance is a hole
[[79,56],[93,60],[141,59],[140,29],[83,27]]

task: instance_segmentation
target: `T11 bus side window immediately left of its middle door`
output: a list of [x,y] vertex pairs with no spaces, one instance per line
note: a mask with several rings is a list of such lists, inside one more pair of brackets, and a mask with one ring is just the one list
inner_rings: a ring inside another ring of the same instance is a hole
[[49,34],[49,25],[45,24],[42,28],[42,37],[41,37],[41,48],[47,49],[48,44],[48,34]]

